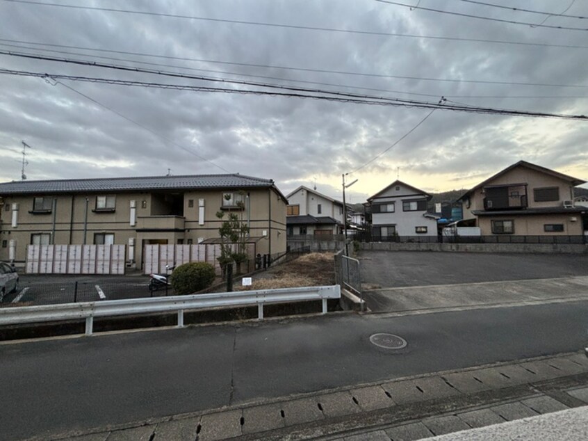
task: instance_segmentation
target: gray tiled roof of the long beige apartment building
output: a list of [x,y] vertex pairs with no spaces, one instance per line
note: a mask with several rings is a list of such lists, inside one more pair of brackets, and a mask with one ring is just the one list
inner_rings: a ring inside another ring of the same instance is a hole
[[56,179],[0,183],[0,195],[26,193],[81,193],[98,191],[145,191],[190,189],[238,189],[271,187],[272,179],[239,175],[185,175],[152,177],[108,177],[99,179]]

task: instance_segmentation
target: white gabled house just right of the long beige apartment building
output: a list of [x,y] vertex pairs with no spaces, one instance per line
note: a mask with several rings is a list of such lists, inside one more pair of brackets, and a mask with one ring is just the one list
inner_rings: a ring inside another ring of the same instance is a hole
[[288,198],[288,234],[341,234],[343,202],[300,186]]

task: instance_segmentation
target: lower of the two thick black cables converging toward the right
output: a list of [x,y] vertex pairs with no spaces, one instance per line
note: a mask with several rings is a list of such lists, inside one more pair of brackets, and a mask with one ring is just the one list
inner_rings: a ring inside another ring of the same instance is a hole
[[[195,92],[215,92],[215,93],[238,93],[243,95],[269,95],[277,97],[295,97],[295,98],[310,98],[310,99],[322,99],[332,102],[345,102],[351,104],[373,104],[379,106],[396,106],[396,107],[412,107],[422,109],[443,109],[448,111],[462,111],[468,113],[484,113],[491,115],[509,115],[509,116],[530,116],[538,118],[560,118],[566,120],[588,120],[585,115],[564,115],[557,113],[544,113],[544,112],[530,112],[530,111],[516,111],[509,109],[494,109],[491,107],[482,106],[470,106],[470,105],[455,105],[446,104],[446,100],[442,98],[439,103],[434,102],[420,102],[409,99],[394,99],[387,97],[354,97],[353,95],[345,96],[345,94],[339,94],[337,96],[329,95],[310,95],[309,93],[293,93],[293,92],[277,92],[268,90],[250,90],[250,89],[235,89],[235,88],[211,88],[206,86],[190,86],[190,85],[179,85],[169,83],[153,83],[143,81],[129,81],[120,79],[106,79],[96,77],[74,77],[72,75],[63,74],[49,74],[47,72],[26,72],[17,70],[0,69],[0,74],[10,74],[22,77],[38,77],[42,79],[67,79],[72,81],[85,81],[91,83],[104,83],[104,84],[115,84],[120,86],[138,86],[146,88],[163,88],[163,89],[174,89],[174,90],[192,90]],[[443,102],[443,104],[441,104]]]

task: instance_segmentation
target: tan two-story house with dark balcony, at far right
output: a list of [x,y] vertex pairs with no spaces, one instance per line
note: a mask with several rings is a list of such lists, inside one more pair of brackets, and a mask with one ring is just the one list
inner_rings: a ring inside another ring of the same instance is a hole
[[514,234],[580,236],[588,230],[587,207],[574,202],[577,179],[518,161],[467,191],[464,220],[475,220],[482,236]]

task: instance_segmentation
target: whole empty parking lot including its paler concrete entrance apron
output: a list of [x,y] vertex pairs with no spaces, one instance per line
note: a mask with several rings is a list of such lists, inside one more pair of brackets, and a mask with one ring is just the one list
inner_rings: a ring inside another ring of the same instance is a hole
[[588,298],[588,255],[366,251],[359,261],[373,312]]

